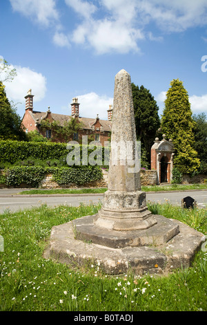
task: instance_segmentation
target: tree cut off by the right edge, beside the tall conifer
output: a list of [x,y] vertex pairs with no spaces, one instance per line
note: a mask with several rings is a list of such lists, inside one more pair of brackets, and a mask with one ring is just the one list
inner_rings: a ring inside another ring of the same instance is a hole
[[193,115],[195,121],[194,136],[195,145],[194,149],[197,151],[201,166],[199,171],[207,174],[207,116],[206,113]]

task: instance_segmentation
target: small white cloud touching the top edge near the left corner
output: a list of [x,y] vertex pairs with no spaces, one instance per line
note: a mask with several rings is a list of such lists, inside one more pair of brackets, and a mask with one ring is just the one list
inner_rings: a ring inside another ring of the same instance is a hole
[[14,11],[43,26],[49,26],[52,21],[59,19],[55,0],[10,0],[10,3]]

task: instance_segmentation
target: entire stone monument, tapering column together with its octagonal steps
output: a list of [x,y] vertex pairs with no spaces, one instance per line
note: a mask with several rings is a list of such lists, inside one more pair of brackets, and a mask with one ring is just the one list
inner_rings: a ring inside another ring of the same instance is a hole
[[153,215],[141,192],[130,75],[115,76],[108,191],[101,210],[52,228],[46,257],[72,266],[93,263],[108,274],[165,272],[190,266],[204,234]]

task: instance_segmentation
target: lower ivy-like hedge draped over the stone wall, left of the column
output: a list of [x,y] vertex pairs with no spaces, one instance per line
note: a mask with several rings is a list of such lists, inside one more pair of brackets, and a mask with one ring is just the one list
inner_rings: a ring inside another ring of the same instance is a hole
[[6,169],[0,177],[0,182],[6,186],[18,187],[21,184],[30,187],[39,187],[39,183],[46,174],[52,174],[53,179],[59,185],[76,183],[83,185],[85,183],[99,180],[102,178],[102,171],[95,166],[80,167],[41,167],[41,166],[15,166]]

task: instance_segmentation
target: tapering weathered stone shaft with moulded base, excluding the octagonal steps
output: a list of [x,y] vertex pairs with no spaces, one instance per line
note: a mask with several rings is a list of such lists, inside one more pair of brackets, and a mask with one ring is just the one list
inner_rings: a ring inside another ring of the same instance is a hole
[[113,107],[108,191],[95,224],[110,230],[147,229],[157,221],[141,192],[131,79],[125,70],[115,76]]

